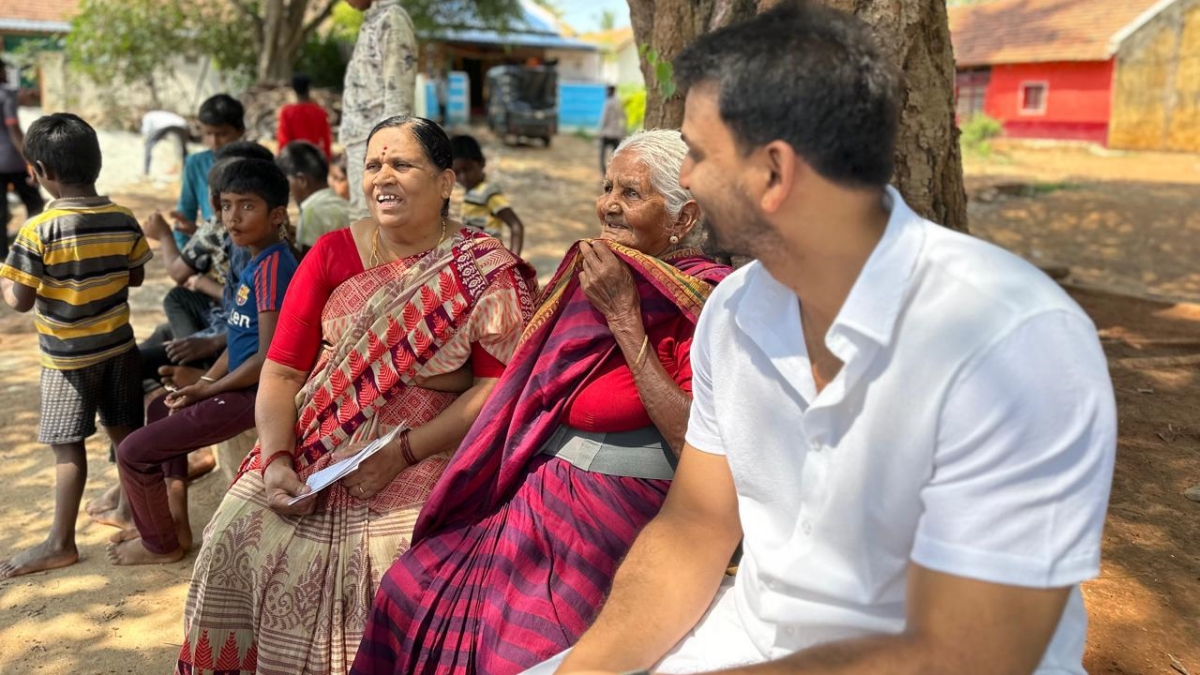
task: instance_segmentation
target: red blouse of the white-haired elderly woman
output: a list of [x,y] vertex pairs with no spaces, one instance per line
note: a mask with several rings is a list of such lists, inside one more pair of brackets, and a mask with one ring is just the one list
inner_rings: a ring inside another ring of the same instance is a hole
[[[696,327],[682,315],[649,330],[650,351],[667,375],[691,394],[691,338]],[[649,358],[647,356],[646,358]],[[617,348],[583,383],[578,395],[563,411],[563,423],[583,431],[632,431],[649,426],[650,419],[634,383],[624,353]]]

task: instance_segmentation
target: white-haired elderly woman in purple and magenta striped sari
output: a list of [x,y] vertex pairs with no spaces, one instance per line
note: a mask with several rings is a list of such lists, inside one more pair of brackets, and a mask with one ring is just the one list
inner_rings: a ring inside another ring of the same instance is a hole
[[352,673],[520,673],[569,647],[658,513],[683,448],[691,338],[730,268],[694,243],[678,131],[613,154],[575,244],[384,575]]

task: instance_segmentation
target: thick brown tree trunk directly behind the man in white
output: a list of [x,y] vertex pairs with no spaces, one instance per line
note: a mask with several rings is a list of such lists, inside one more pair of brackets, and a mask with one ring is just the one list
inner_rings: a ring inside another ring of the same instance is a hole
[[[629,0],[638,44],[659,59],[674,59],[703,32],[763,11],[778,0]],[[875,29],[880,44],[904,72],[896,172],[893,183],[919,214],[966,232],[962,156],[954,124],[954,56],[946,0],[821,0],[852,12]],[[786,65],[781,65],[786,67]],[[654,67],[642,56],[646,74],[646,127],[678,127],[683,92],[664,101]]]

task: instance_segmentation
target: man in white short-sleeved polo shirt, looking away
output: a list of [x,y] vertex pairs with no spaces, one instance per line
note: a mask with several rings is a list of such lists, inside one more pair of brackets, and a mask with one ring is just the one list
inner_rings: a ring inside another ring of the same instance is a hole
[[758,262],[704,307],[671,492],[558,673],[1082,674],[1116,442],[1091,321],[886,186],[901,86],[853,17],[785,2],[676,77],[680,183]]

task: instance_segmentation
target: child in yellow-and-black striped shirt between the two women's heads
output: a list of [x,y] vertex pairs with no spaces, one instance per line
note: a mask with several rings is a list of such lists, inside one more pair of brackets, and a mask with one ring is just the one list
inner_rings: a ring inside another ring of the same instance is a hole
[[462,201],[462,223],[482,229],[500,241],[508,227],[511,231],[509,250],[520,256],[524,244],[524,223],[512,210],[504,191],[487,181],[484,173],[487,160],[479,141],[473,136],[455,136],[450,139],[450,151],[454,153],[455,178],[467,190]]

